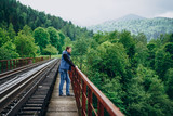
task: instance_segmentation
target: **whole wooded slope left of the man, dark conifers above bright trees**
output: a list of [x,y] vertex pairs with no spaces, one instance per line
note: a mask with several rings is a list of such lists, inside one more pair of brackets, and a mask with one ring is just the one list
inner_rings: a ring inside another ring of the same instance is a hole
[[93,33],[71,22],[23,5],[16,0],[0,3],[0,60],[57,55],[65,46]]

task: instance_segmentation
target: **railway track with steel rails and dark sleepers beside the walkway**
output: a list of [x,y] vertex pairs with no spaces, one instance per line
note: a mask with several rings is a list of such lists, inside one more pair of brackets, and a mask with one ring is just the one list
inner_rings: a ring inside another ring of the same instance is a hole
[[51,60],[0,85],[0,115],[42,116],[57,75],[58,63],[57,59]]

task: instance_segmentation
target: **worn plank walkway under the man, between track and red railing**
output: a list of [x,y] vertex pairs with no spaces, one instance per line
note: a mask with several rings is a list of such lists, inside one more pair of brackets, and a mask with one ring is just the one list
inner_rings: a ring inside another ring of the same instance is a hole
[[[46,116],[78,116],[78,109],[75,96],[59,96],[59,74],[54,86],[53,94],[50,100]],[[66,82],[63,88],[64,94],[66,94]],[[74,93],[70,85],[70,93]]]

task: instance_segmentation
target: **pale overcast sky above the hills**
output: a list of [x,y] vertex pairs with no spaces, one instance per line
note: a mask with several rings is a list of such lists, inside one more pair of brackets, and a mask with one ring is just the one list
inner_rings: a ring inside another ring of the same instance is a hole
[[18,0],[79,26],[96,25],[128,14],[173,18],[173,0]]

